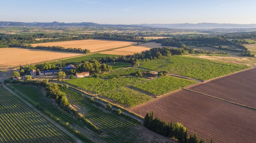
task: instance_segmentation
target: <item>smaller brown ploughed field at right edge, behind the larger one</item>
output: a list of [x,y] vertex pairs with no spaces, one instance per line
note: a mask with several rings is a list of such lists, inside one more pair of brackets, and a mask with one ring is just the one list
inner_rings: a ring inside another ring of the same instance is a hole
[[256,108],[256,68],[200,83],[187,89]]

